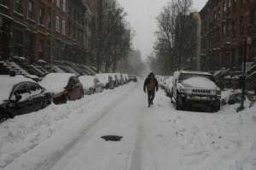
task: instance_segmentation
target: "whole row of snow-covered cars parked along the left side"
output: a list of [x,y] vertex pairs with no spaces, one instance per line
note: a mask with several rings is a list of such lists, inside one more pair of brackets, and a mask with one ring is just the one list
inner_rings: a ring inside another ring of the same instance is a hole
[[52,102],[64,104],[131,81],[137,82],[137,77],[120,73],[81,77],[71,73],[49,73],[40,82],[21,75],[0,75],[0,122],[39,111]]

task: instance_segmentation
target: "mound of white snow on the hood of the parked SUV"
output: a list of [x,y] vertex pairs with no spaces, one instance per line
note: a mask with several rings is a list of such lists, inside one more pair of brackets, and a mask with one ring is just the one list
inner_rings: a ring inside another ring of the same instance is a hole
[[189,84],[195,88],[207,88],[215,89],[217,88],[216,84],[209,80],[207,77],[191,77],[183,81],[185,84]]

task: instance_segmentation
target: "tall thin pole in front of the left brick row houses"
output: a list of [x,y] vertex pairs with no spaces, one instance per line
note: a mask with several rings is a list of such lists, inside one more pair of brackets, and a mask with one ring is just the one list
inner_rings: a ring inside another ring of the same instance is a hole
[[55,1],[51,0],[50,3],[50,39],[49,39],[49,62],[50,62],[50,71],[54,70],[54,34],[55,34],[55,27],[54,27],[54,17],[55,17]]

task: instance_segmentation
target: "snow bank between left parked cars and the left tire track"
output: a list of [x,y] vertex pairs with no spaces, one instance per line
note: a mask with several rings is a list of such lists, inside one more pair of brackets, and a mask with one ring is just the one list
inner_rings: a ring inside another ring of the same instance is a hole
[[[15,116],[14,119],[1,123],[0,169],[12,169],[9,167],[10,164],[15,163],[17,159],[26,156],[29,152],[38,148],[42,149],[44,146],[47,149],[40,150],[40,154],[26,159],[26,161],[47,159],[44,156],[58,152],[61,147],[65,147],[66,144],[73,141],[73,138],[76,138],[76,135],[81,133],[84,127],[96,122],[109,105],[115,105],[120,97],[123,98],[122,96],[127,95],[134,87],[135,84],[131,83],[123,89],[117,88],[102,94],[94,94],[86,97],[86,99],[68,102],[67,105],[49,105],[44,110]],[[56,139],[55,142],[52,139]],[[38,169],[32,167],[20,168]]]

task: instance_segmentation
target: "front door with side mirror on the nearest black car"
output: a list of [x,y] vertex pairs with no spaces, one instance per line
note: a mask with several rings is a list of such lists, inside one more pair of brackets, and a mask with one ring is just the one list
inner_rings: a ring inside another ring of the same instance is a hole
[[26,82],[17,84],[12,95],[11,100],[15,102],[15,115],[26,114],[31,111],[30,94]]

